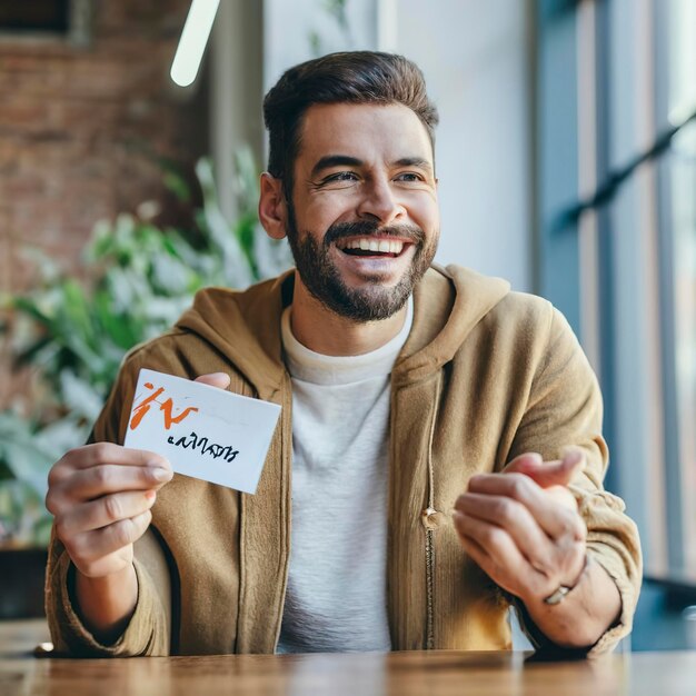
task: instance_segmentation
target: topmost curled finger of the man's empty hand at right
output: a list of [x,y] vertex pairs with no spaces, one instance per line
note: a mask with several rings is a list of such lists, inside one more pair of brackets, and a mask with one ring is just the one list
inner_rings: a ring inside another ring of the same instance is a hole
[[[505,496],[525,506],[541,529],[551,538],[571,536],[584,539],[585,527],[576,509],[560,505],[535,481],[524,474],[483,474],[469,480],[470,494],[484,496]],[[455,507],[464,496],[458,498]],[[575,503],[574,503],[575,505]]]

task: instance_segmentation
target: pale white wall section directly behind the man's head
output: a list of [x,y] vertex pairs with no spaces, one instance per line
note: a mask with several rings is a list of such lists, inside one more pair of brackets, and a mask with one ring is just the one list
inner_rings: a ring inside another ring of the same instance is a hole
[[312,30],[325,52],[396,49],[420,66],[440,111],[437,260],[503,276],[518,290],[531,289],[529,4],[348,0],[349,36],[322,12],[322,0],[265,0],[264,12],[266,88],[311,58]]

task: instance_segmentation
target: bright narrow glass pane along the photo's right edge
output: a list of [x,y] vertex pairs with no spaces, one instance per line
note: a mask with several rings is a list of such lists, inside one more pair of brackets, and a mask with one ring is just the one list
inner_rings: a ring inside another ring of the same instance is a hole
[[696,2],[669,0],[667,31],[662,38],[666,53],[668,123],[687,123],[673,138],[662,169],[666,268],[665,294],[674,307],[668,335],[674,370],[673,527],[682,529],[676,570],[696,577]]

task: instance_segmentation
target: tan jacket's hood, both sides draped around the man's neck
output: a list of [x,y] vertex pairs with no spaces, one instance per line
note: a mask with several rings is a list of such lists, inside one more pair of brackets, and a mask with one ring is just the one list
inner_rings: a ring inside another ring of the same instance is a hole
[[[292,301],[295,271],[237,291],[200,290],[177,321],[225,355],[271,400],[285,377],[280,317]],[[427,377],[451,360],[471,329],[507,294],[509,284],[458,266],[432,266],[414,290],[414,326],[401,350],[392,382]]]

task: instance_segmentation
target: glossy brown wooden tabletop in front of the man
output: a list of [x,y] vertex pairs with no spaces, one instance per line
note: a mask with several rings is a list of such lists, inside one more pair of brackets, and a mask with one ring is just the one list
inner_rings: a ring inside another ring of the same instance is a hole
[[536,664],[523,653],[37,659],[43,622],[0,624],[2,696],[694,696],[696,652]]

